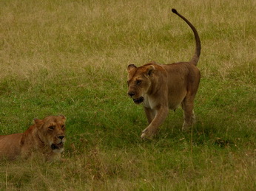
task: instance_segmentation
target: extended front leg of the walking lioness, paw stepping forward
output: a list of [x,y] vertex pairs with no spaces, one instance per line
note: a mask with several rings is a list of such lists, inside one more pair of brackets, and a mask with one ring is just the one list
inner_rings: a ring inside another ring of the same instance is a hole
[[158,109],[156,111],[155,118],[152,119],[152,122],[149,124],[149,126],[147,126],[147,128],[142,131],[141,138],[153,136],[158,130],[158,127],[164,122],[164,119],[166,119],[168,113],[169,109],[167,107]]

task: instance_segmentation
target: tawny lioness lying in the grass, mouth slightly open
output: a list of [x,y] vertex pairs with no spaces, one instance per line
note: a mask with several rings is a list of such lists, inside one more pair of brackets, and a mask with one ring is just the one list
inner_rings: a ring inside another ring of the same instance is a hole
[[66,117],[48,116],[34,119],[24,133],[0,136],[0,159],[27,158],[41,153],[47,161],[59,159],[64,150]]

